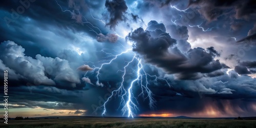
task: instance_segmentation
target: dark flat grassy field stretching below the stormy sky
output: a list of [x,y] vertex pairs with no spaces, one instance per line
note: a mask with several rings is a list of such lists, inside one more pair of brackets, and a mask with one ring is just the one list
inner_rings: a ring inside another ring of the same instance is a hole
[[255,120],[217,120],[217,119],[124,119],[124,118],[82,118],[82,119],[39,119],[9,120],[8,124],[0,123],[0,127],[174,127],[174,128],[254,128]]

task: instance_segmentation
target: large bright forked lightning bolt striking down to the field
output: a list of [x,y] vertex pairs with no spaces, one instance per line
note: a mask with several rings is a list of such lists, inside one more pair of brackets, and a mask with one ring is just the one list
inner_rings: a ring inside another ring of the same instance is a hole
[[[110,62],[103,63],[100,68],[95,68],[95,69],[99,69],[99,70],[102,69],[103,65],[109,65],[118,56],[120,56],[124,53],[127,53],[130,50],[132,50],[132,49],[128,49],[128,50],[116,55],[115,58],[110,60]],[[129,88],[125,89],[125,86],[124,86],[125,78],[124,78],[124,76],[127,74],[126,68],[129,67],[129,65],[134,61],[137,62],[137,70],[136,70],[136,76],[137,77],[135,79],[133,79],[132,82],[129,84]],[[154,109],[155,104],[156,104],[156,100],[153,98],[154,94],[148,88],[148,85],[150,85],[150,82],[148,82],[149,77],[154,77],[156,81],[158,81],[158,79],[164,80],[166,82],[166,84],[168,84],[168,86],[171,87],[171,85],[168,83],[168,81],[166,79],[160,78],[156,75],[147,74],[145,72],[144,68],[143,68],[142,60],[140,58],[138,58],[136,56],[136,54],[134,54],[133,59],[131,61],[127,62],[127,64],[123,67],[123,70],[118,70],[117,72],[119,72],[119,71],[123,72],[120,87],[118,89],[114,90],[112,92],[111,96],[104,102],[104,104],[102,106],[99,106],[95,110],[95,111],[98,111],[100,108],[103,108],[103,112],[102,112],[101,116],[104,116],[106,114],[106,104],[110,101],[110,99],[115,97],[116,95],[118,95],[118,97],[121,98],[119,108],[121,106],[123,106],[123,108],[121,109],[122,115],[124,116],[125,114],[127,114],[126,115],[127,117],[132,117],[133,118],[134,115],[135,115],[134,111],[137,112],[137,110],[139,110],[138,106],[136,105],[136,103],[138,103],[138,101],[137,101],[136,97],[133,94],[133,87],[134,87],[134,84],[136,83],[136,81],[137,81],[137,84],[141,87],[141,93],[138,96],[142,96],[143,100],[148,98],[148,100],[149,100],[148,105],[150,105],[151,109]],[[98,74],[97,74],[97,79],[98,80],[97,80],[96,84],[99,83],[99,77],[98,77],[99,74],[100,73],[98,71]],[[143,78],[144,78],[144,80],[143,80]],[[143,83],[145,83],[145,84],[143,84]],[[147,95],[147,96],[144,97],[144,95]]]

